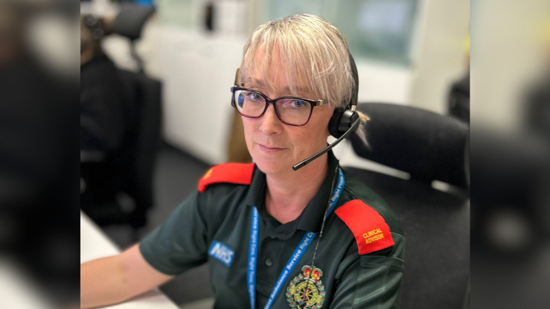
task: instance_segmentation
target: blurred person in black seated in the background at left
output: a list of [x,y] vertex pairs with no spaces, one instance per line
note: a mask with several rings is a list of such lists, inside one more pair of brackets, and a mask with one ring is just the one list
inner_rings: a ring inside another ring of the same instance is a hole
[[118,209],[111,205],[121,190],[114,157],[135,124],[132,93],[101,48],[104,25],[96,16],[80,16],[81,207],[98,223]]

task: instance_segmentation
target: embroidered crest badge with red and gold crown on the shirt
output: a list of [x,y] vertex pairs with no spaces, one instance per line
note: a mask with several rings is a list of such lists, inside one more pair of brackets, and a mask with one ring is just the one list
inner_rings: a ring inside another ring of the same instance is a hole
[[306,265],[302,267],[302,272],[294,277],[287,287],[287,301],[290,308],[296,308],[298,305],[300,308],[321,308],[326,294],[325,286],[319,279],[322,271],[314,267],[312,273],[311,266]]

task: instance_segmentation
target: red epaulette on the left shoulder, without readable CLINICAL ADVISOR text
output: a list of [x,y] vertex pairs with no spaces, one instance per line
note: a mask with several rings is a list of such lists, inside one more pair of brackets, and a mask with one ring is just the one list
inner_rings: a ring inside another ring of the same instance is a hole
[[199,192],[204,192],[212,183],[236,183],[250,185],[254,163],[225,163],[210,168],[199,180]]

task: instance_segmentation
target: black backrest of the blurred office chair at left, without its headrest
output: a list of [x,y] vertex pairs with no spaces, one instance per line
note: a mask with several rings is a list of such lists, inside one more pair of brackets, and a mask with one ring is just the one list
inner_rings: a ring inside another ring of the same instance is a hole
[[153,167],[160,144],[161,84],[141,73],[119,71],[129,93],[135,95],[135,126],[120,153],[124,192],[135,201],[132,225],[145,224],[145,211],[153,205]]

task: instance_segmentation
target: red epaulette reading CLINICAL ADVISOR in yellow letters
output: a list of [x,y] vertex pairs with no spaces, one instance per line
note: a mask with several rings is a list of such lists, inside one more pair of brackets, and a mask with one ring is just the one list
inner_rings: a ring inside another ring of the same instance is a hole
[[363,201],[349,201],[338,207],[335,212],[351,229],[360,255],[393,246],[393,238],[386,220]]

